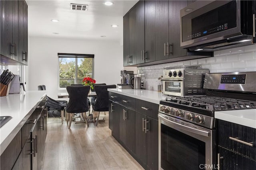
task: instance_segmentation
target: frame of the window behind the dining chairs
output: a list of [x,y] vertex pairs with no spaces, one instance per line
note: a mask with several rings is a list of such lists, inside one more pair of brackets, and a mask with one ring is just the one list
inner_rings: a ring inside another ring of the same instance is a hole
[[75,84],[78,79],[78,59],[79,58],[92,58],[92,78],[94,78],[94,54],[70,54],[70,53],[58,53],[58,89],[64,90],[66,88],[60,88],[60,58],[75,58],[76,75]]

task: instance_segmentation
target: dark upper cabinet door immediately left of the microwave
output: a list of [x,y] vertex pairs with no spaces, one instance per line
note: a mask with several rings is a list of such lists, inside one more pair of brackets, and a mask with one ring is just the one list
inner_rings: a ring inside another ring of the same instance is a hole
[[186,49],[180,47],[180,10],[186,5],[186,0],[169,1],[169,58],[186,55]]

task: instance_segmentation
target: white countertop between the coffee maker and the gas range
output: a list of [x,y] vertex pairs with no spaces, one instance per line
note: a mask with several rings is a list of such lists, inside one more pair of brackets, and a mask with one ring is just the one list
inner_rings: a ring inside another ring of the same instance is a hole
[[156,92],[152,90],[134,90],[134,89],[115,89],[115,88],[108,88],[109,92],[122,94],[124,96],[129,96],[132,98],[145,100],[147,102],[159,104],[160,100],[165,100],[167,95],[162,94],[162,92]]

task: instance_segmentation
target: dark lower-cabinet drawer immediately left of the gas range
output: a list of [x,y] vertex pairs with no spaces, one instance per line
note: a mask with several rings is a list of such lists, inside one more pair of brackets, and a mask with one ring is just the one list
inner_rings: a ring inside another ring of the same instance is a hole
[[136,99],[136,111],[143,113],[149,117],[154,119],[158,119],[158,104],[154,104],[151,102],[146,102],[144,100]]

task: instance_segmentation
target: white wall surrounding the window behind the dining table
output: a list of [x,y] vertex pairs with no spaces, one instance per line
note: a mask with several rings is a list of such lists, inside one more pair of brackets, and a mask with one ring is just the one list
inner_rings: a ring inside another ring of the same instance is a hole
[[116,41],[30,37],[27,90],[46,85],[47,95],[58,99],[58,53],[94,54],[97,83],[118,84],[123,69],[123,46]]

